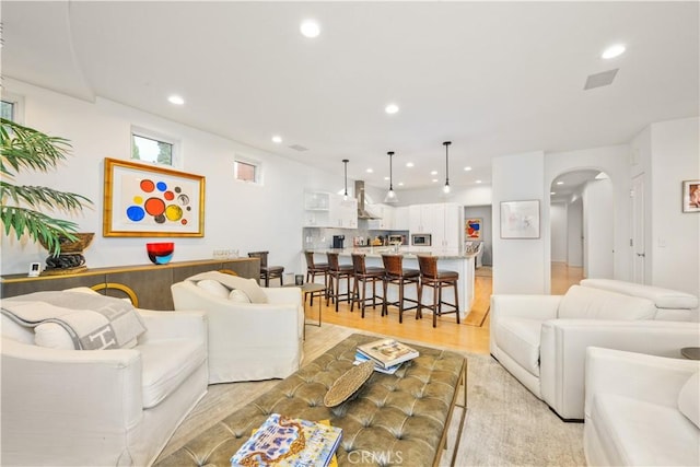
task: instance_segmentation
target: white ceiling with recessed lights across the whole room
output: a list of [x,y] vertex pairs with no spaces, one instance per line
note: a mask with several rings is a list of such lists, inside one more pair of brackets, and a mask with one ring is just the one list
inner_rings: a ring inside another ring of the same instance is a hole
[[[387,151],[395,187],[430,186],[431,170],[442,185],[451,140],[450,182],[468,186],[490,182],[497,155],[626,143],[700,115],[698,7],[3,0],[2,74],[339,174],[349,159],[348,176],[374,186],[388,185]],[[308,17],[315,39],[299,33]],[[615,43],[627,52],[603,60]],[[583,90],[615,68],[611,85]]]

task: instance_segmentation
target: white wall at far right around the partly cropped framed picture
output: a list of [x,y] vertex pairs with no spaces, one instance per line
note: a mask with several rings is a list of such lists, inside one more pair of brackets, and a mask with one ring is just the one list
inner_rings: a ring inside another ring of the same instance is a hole
[[[700,179],[700,118],[651,126],[651,283],[700,296],[700,213],[681,210],[681,183]],[[648,209],[649,210],[649,209]]]

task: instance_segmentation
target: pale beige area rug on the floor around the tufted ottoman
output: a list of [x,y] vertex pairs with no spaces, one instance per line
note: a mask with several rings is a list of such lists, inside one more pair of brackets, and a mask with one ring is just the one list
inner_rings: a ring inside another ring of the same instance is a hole
[[[324,324],[322,328],[307,327],[304,362],[311,362],[357,331],[330,324]],[[425,346],[424,342],[405,341]],[[468,362],[468,400],[456,466],[585,465],[582,423],[562,422],[491,357],[460,353],[467,357]],[[209,386],[209,394],[185,419],[160,458],[276,384],[276,381],[267,381]],[[455,408],[441,466],[450,465],[460,411],[460,408]]]

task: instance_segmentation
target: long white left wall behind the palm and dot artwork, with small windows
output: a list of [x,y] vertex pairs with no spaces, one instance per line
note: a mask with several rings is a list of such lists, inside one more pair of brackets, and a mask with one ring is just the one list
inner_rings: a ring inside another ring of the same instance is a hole
[[[95,103],[5,79],[7,91],[24,96],[25,125],[72,142],[72,156],[49,174],[26,173],[19,183],[74,191],[94,202],[75,220],[80,231],[95,232],[85,250],[89,267],[149,264],[147,237],[103,237],[104,157],[129,159],[131,125],[180,140],[184,172],[206,176],[205,237],[174,238],[174,260],[211,258],[213,248],[247,252],[268,249],[270,261],[285,272],[301,272],[303,191],[337,190],[342,171],[320,172],[224,138],[175,124],[104,100]],[[186,112],[186,109],[184,110]],[[264,185],[233,178],[233,157],[245,154],[262,164]],[[2,235],[2,273],[26,272],[30,262],[44,262],[47,253],[23,238]]]

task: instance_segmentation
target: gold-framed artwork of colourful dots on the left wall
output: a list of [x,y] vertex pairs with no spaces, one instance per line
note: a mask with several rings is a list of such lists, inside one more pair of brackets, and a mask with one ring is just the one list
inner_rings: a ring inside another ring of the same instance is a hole
[[104,236],[205,236],[205,177],[105,157]]

